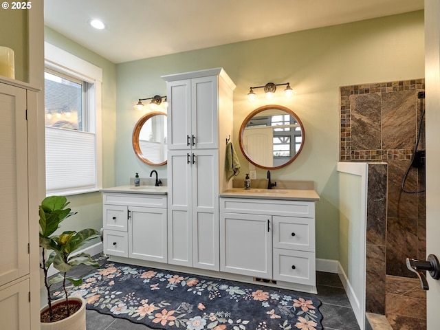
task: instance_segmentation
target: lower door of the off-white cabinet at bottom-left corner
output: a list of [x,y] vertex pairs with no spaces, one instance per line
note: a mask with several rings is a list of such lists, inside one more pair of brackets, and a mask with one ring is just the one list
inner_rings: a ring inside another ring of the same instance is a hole
[[28,279],[0,288],[1,329],[30,329],[29,292]]

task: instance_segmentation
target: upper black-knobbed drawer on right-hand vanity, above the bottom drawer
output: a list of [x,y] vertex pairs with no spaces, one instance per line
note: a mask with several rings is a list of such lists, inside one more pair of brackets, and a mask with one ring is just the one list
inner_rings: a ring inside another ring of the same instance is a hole
[[315,219],[272,218],[274,248],[315,252]]

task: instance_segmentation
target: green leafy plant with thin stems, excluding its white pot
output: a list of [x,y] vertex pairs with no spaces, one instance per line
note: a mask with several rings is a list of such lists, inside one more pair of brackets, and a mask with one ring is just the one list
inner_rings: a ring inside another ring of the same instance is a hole
[[[63,282],[63,290],[65,293],[67,315],[70,316],[69,298],[66,290],[66,281],[77,286],[83,283],[82,278],[71,278],[67,273],[76,265],[90,265],[98,267],[98,262],[91,259],[90,254],[80,253],[74,254],[86,241],[98,237],[98,231],[87,228],[84,230],[65,231],[56,235],[54,232],[60,227],[60,223],[68,217],[76,214],[70,208],[67,208],[66,197],[50,196],[43,199],[39,206],[40,214],[40,247],[42,248],[42,260],[40,267],[44,274],[44,283],[47,289],[47,305],[49,322],[54,322],[54,310],[52,307],[52,298],[50,296],[50,287],[59,282]],[[49,256],[47,256],[49,254]],[[47,271],[53,265],[60,273],[49,279]]]

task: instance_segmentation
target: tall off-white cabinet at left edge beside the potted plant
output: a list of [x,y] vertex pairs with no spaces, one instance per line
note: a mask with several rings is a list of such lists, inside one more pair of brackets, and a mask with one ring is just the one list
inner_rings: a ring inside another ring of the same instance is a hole
[[37,329],[31,321],[31,300],[39,305],[38,209],[29,209],[34,197],[28,184],[28,178],[32,184],[36,179],[29,166],[36,159],[29,153],[35,148],[32,131],[37,91],[24,83],[0,79],[1,329]]

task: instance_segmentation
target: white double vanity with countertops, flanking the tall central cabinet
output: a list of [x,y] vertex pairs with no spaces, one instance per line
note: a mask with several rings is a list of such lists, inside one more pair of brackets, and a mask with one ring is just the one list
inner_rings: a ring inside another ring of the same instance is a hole
[[[103,189],[104,253],[112,261],[149,265],[316,293],[313,189],[232,188],[219,196],[219,270],[170,262],[174,231],[167,217],[168,187]],[[171,245],[172,246],[172,245]]]

